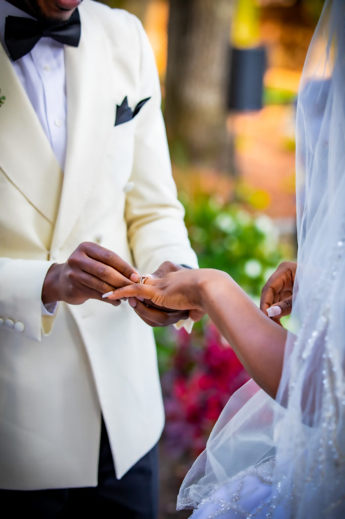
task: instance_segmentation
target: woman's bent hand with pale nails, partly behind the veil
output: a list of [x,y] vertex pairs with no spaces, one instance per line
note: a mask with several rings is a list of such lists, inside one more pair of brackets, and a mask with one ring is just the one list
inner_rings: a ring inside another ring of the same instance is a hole
[[261,291],[260,309],[278,324],[291,313],[296,268],[295,262],[281,263]]

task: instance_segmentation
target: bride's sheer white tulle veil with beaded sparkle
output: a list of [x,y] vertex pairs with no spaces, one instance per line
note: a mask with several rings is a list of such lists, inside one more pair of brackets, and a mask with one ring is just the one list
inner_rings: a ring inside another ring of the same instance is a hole
[[228,491],[212,517],[345,517],[344,0],[326,0],[301,78],[296,196],[298,267],[276,401],[252,380],[233,395],[183,481],[178,509],[255,474],[269,495],[247,506],[248,489],[239,506]]

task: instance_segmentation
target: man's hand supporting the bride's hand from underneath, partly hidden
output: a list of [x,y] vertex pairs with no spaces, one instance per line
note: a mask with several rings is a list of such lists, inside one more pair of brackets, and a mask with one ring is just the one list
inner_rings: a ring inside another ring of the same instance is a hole
[[[190,269],[185,269],[181,265],[165,261],[153,274],[150,274],[150,278],[162,279],[169,274],[169,272],[176,272],[178,270]],[[150,298],[131,297],[129,304],[135,309],[138,316],[149,326],[168,326],[169,324],[175,324],[181,319],[188,319],[189,317],[189,312],[186,309],[179,310],[166,305],[159,305],[151,301]],[[203,315],[204,313],[201,317],[203,317]],[[201,319],[201,317],[199,319]]]

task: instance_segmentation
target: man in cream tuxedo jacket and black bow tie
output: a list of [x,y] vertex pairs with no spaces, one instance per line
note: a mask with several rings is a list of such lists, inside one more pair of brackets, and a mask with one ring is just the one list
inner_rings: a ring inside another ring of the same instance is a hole
[[148,324],[187,316],[102,299],[197,265],[153,53],[134,16],[92,0],[0,0],[0,42],[3,508],[154,519]]

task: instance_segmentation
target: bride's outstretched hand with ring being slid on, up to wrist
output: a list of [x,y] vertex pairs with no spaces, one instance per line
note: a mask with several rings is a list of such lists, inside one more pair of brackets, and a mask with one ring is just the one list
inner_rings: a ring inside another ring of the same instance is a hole
[[[204,271],[205,273],[205,271]],[[206,274],[206,273],[205,273]],[[205,276],[199,269],[181,269],[169,272],[162,278],[148,277],[144,284],[134,283],[114,290],[108,298],[150,299],[159,307],[173,310],[189,310],[189,316],[194,321],[201,319],[205,311],[202,306],[200,284]]]

